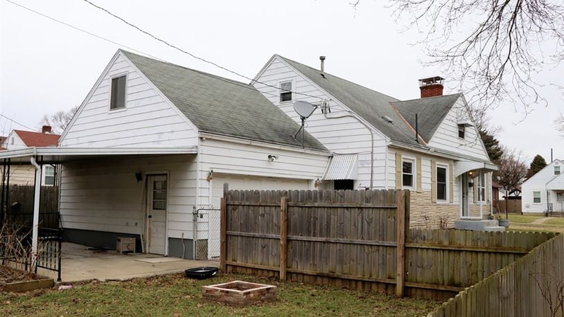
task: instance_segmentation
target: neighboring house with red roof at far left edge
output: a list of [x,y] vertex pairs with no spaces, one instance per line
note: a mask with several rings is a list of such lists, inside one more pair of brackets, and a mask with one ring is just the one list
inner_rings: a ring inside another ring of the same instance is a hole
[[[1,143],[2,150],[18,150],[26,147],[56,147],[59,136],[51,134],[51,127],[44,125],[42,132],[12,130]],[[1,165],[1,162],[0,162]],[[42,171],[42,185],[55,185],[54,165],[44,165]],[[10,185],[33,185],[35,168],[29,162],[21,162],[10,167]]]

